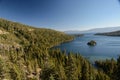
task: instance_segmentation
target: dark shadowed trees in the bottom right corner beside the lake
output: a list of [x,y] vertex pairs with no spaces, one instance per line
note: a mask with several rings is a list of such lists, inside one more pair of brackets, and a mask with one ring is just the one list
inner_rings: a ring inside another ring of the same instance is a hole
[[97,68],[106,73],[110,80],[120,80],[120,57],[116,60],[96,61]]

